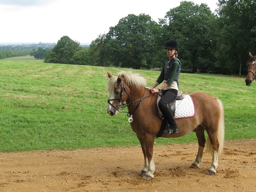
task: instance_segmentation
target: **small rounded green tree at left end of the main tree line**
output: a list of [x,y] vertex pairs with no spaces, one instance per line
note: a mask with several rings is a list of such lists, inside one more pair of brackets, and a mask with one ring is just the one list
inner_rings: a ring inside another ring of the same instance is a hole
[[81,49],[77,41],[63,36],[58,40],[56,46],[47,53],[45,62],[71,64],[74,53]]

